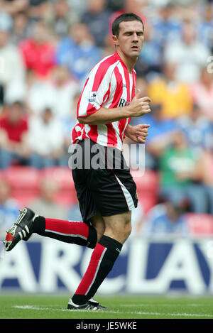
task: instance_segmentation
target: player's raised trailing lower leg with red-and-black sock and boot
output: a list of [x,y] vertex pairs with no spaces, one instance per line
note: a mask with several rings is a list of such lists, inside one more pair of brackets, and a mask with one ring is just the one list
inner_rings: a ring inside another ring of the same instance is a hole
[[104,221],[99,213],[94,216],[93,224],[94,226],[91,222],[49,219],[35,214],[29,208],[24,208],[20,211],[16,222],[7,231],[4,241],[5,249],[11,251],[18,241],[22,239],[27,241],[33,233],[94,249],[104,233]]

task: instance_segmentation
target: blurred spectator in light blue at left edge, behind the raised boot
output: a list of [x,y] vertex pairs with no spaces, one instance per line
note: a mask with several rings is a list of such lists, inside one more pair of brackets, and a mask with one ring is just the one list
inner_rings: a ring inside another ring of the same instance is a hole
[[11,197],[9,182],[0,178],[0,239],[18,217],[18,202]]

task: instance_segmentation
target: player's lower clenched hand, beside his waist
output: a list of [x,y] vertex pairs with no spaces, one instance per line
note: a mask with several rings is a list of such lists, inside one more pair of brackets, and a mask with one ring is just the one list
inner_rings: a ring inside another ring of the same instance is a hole
[[126,127],[126,136],[128,136],[132,141],[137,143],[145,143],[148,136],[148,124],[139,124],[136,126],[128,125]]

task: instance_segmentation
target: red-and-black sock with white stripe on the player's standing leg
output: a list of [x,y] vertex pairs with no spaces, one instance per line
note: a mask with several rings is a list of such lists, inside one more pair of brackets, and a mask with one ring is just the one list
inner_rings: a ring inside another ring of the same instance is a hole
[[94,248],[87,271],[72,297],[72,302],[82,305],[94,296],[111,268],[113,268],[121,249],[122,244],[119,241],[108,236],[102,236]]

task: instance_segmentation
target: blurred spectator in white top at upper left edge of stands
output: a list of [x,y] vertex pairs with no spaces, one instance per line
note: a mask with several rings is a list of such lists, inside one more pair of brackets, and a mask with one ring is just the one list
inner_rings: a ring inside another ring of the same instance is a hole
[[9,40],[12,27],[11,16],[0,12],[0,85],[6,103],[23,99],[25,94],[26,72],[21,53]]

